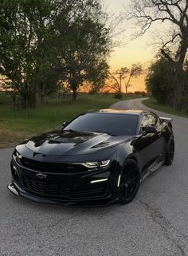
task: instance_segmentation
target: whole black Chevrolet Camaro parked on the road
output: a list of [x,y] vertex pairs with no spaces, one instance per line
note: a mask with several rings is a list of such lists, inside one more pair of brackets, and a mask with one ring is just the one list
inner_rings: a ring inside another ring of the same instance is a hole
[[141,110],[93,110],[19,144],[8,188],[41,203],[125,204],[148,174],[173,159],[169,118]]

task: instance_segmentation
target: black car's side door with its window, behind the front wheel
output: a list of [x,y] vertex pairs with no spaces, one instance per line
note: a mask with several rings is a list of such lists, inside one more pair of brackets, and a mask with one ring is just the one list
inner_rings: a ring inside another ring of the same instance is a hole
[[[156,128],[156,132],[146,133],[147,126]],[[143,171],[163,156],[164,138],[159,117],[152,112],[143,114],[140,121],[140,134],[135,142],[135,151],[139,154]]]

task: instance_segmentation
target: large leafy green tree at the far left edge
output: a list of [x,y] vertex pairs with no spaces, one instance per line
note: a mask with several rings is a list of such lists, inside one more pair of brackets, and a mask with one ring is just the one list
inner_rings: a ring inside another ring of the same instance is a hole
[[0,0],[0,73],[18,91],[23,108],[35,105],[37,89],[42,96],[49,77],[57,81],[56,24],[61,16],[66,27],[72,8],[68,0]]

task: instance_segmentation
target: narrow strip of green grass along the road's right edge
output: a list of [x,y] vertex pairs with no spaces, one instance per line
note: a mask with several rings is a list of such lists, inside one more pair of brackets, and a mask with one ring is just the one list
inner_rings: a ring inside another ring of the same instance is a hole
[[182,116],[188,118],[188,112],[187,111],[178,111],[174,110],[173,108],[170,108],[169,106],[166,106],[164,104],[159,104],[154,98],[149,98],[147,100],[143,100],[142,103],[146,105],[148,108],[154,108],[156,110],[159,110],[161,112],[166,112],[175,116]]

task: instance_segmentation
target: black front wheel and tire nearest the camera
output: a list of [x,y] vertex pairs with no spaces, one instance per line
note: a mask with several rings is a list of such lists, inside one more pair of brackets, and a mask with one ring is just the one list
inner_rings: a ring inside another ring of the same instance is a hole
[[131,203],[139,191],[140,171],[135,160],[127,160],[119,183],[120,204]]

